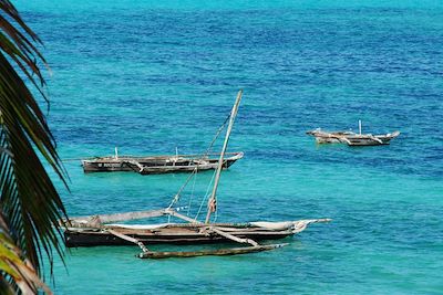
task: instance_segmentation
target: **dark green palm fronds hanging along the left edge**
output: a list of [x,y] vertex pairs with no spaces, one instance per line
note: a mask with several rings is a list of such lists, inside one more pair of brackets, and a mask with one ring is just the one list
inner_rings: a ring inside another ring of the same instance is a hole
[[[0,0],[0,214],[4,220],[0,224],[4,233],[0,241],[11,239],[17,250],[12,252],[20,253],[20,261],[30,266],[11,266],[8,264],[11,260],[3,261],[0,255],[0,288],[4,278],[19,288],[29,281],[32,289],[42,287],[31,273],[35,270],[41,274],[43,253],[49,259],[51,274],[53,251],[62,256],[58,225],[66,213],[39,154],[65,186],[66,175],[45,117],[18,72],[47,99],[39,66],[45,65],[45,61],[37,49],[39,42],[11,2]],[[19,277],[24,281],[18,282]]]

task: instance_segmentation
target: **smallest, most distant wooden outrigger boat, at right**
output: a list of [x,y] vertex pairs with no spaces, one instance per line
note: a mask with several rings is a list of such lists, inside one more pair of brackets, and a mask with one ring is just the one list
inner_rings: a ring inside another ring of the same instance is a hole
[[380,146],[389,145],[390,141],[400,135],[394,131],[383,135],[372,135],[361,133],[361,120],[359,120],[359,133],[353,131],[324,131],[320,128],[307,131],[316,138],[318,144],[347,144],[348,146]]

